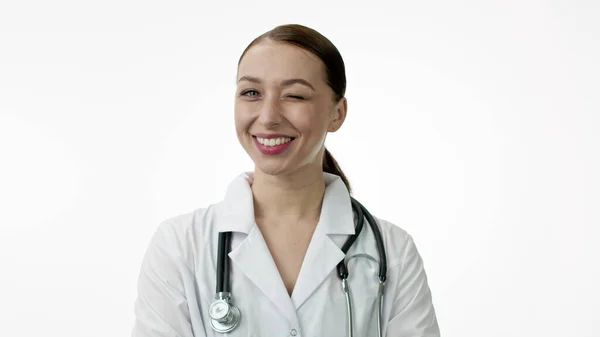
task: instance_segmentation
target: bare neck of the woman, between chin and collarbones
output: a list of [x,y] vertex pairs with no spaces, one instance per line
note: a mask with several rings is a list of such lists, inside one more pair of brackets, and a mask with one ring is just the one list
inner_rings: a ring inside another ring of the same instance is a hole
[[252,193],[257,219],[315,220],[321,214],[325,181],[320,168],[278,176],[256,169]]

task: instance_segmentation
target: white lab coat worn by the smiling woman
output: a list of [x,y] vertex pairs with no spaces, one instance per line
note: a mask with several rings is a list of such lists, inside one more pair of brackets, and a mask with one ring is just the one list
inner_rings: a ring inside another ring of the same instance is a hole
[[[253,173],[238,176],[225,199],[160,224],[143,259],[135,302],[133,337],[223,336],[210,326],[208,307],[216,287],[217,237],[233,231],[231,293],[240,325],[228,336],[346,337],[346,300],[336,266],[339,247],[354,234],[350,196],[336,175],[323,174],[326,191],[321,216],[291,296],[256,226],[250,184]],[[367,206],[368,207],[368,206]],[[440,335],[423,262],[409,234],[376,218],[387,253],[383,335]],[[379,260],[365,220],[350,251]],[[377,336],[378,268],[364,257],[348,262],[354,330]]]

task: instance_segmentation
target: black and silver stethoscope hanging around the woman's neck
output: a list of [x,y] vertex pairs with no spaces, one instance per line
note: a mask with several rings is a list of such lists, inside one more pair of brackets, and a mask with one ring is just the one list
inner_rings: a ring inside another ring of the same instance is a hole
[[[383,238],[381,231],[377,226],[377,222],[369,213],[369,211],[361,205],[356,199],[350,197],[352,202],[352,211],[357,217],[357,224],[355,233],[351,235],[348,240],[342,246],[344,254],[348,253],[352,244],[358,238],[358,235],[362,231],[364,225],[364,219],[367,218],[367,222],[373,230],[375,242],[377,244],[377,251],[379,253],[379,287],[377,289],[377,332],[379,337],[382,337],[381,330],[381,312],[383,308],[383,290],[385,280],[387,277],[387,260],[385,256],[385,248],[383,245]],[[231,297],[231,285],[230,285],[230,266],[229,259],[226,258],[228,252],[231,251],[231,232],[219,233],[219,247],[217,248],[217,293],[215,294],[215,301],[210,305],[208,312],[210,315],[210,326],[214,331],[219,333],[228,333],[235,329],[242,318],[240,309],[232,303]],[[358,255],[355,255],[357,257]],[[342,291],[346,297],[346,308],[348,315],[348,331],[350,337],[354,336],[353,318],[352,318],[352,301],[350,298],[350,287],[348,285],[348,267],[346,265],[346,259],[340,261],[337,265],[337,274],[342,281]]]

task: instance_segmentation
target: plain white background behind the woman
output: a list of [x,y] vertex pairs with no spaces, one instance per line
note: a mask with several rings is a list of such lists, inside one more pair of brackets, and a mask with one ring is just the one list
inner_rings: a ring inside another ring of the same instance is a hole
[[598,1],[3,1],[0,336],[128,336],[160,221],[252,169],[238,57],[279,24],[347,67],[327,145],[411,233],[444,336],[600,336]]

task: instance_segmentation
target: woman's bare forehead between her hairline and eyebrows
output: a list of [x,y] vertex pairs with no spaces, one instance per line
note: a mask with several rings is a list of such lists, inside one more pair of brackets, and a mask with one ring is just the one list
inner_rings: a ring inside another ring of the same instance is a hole
[[324,65],[315,55],[289,43],[261,41],[250,47],[238,69],[242,76],[265,81],[303,78],[318,85],[323,81]]

